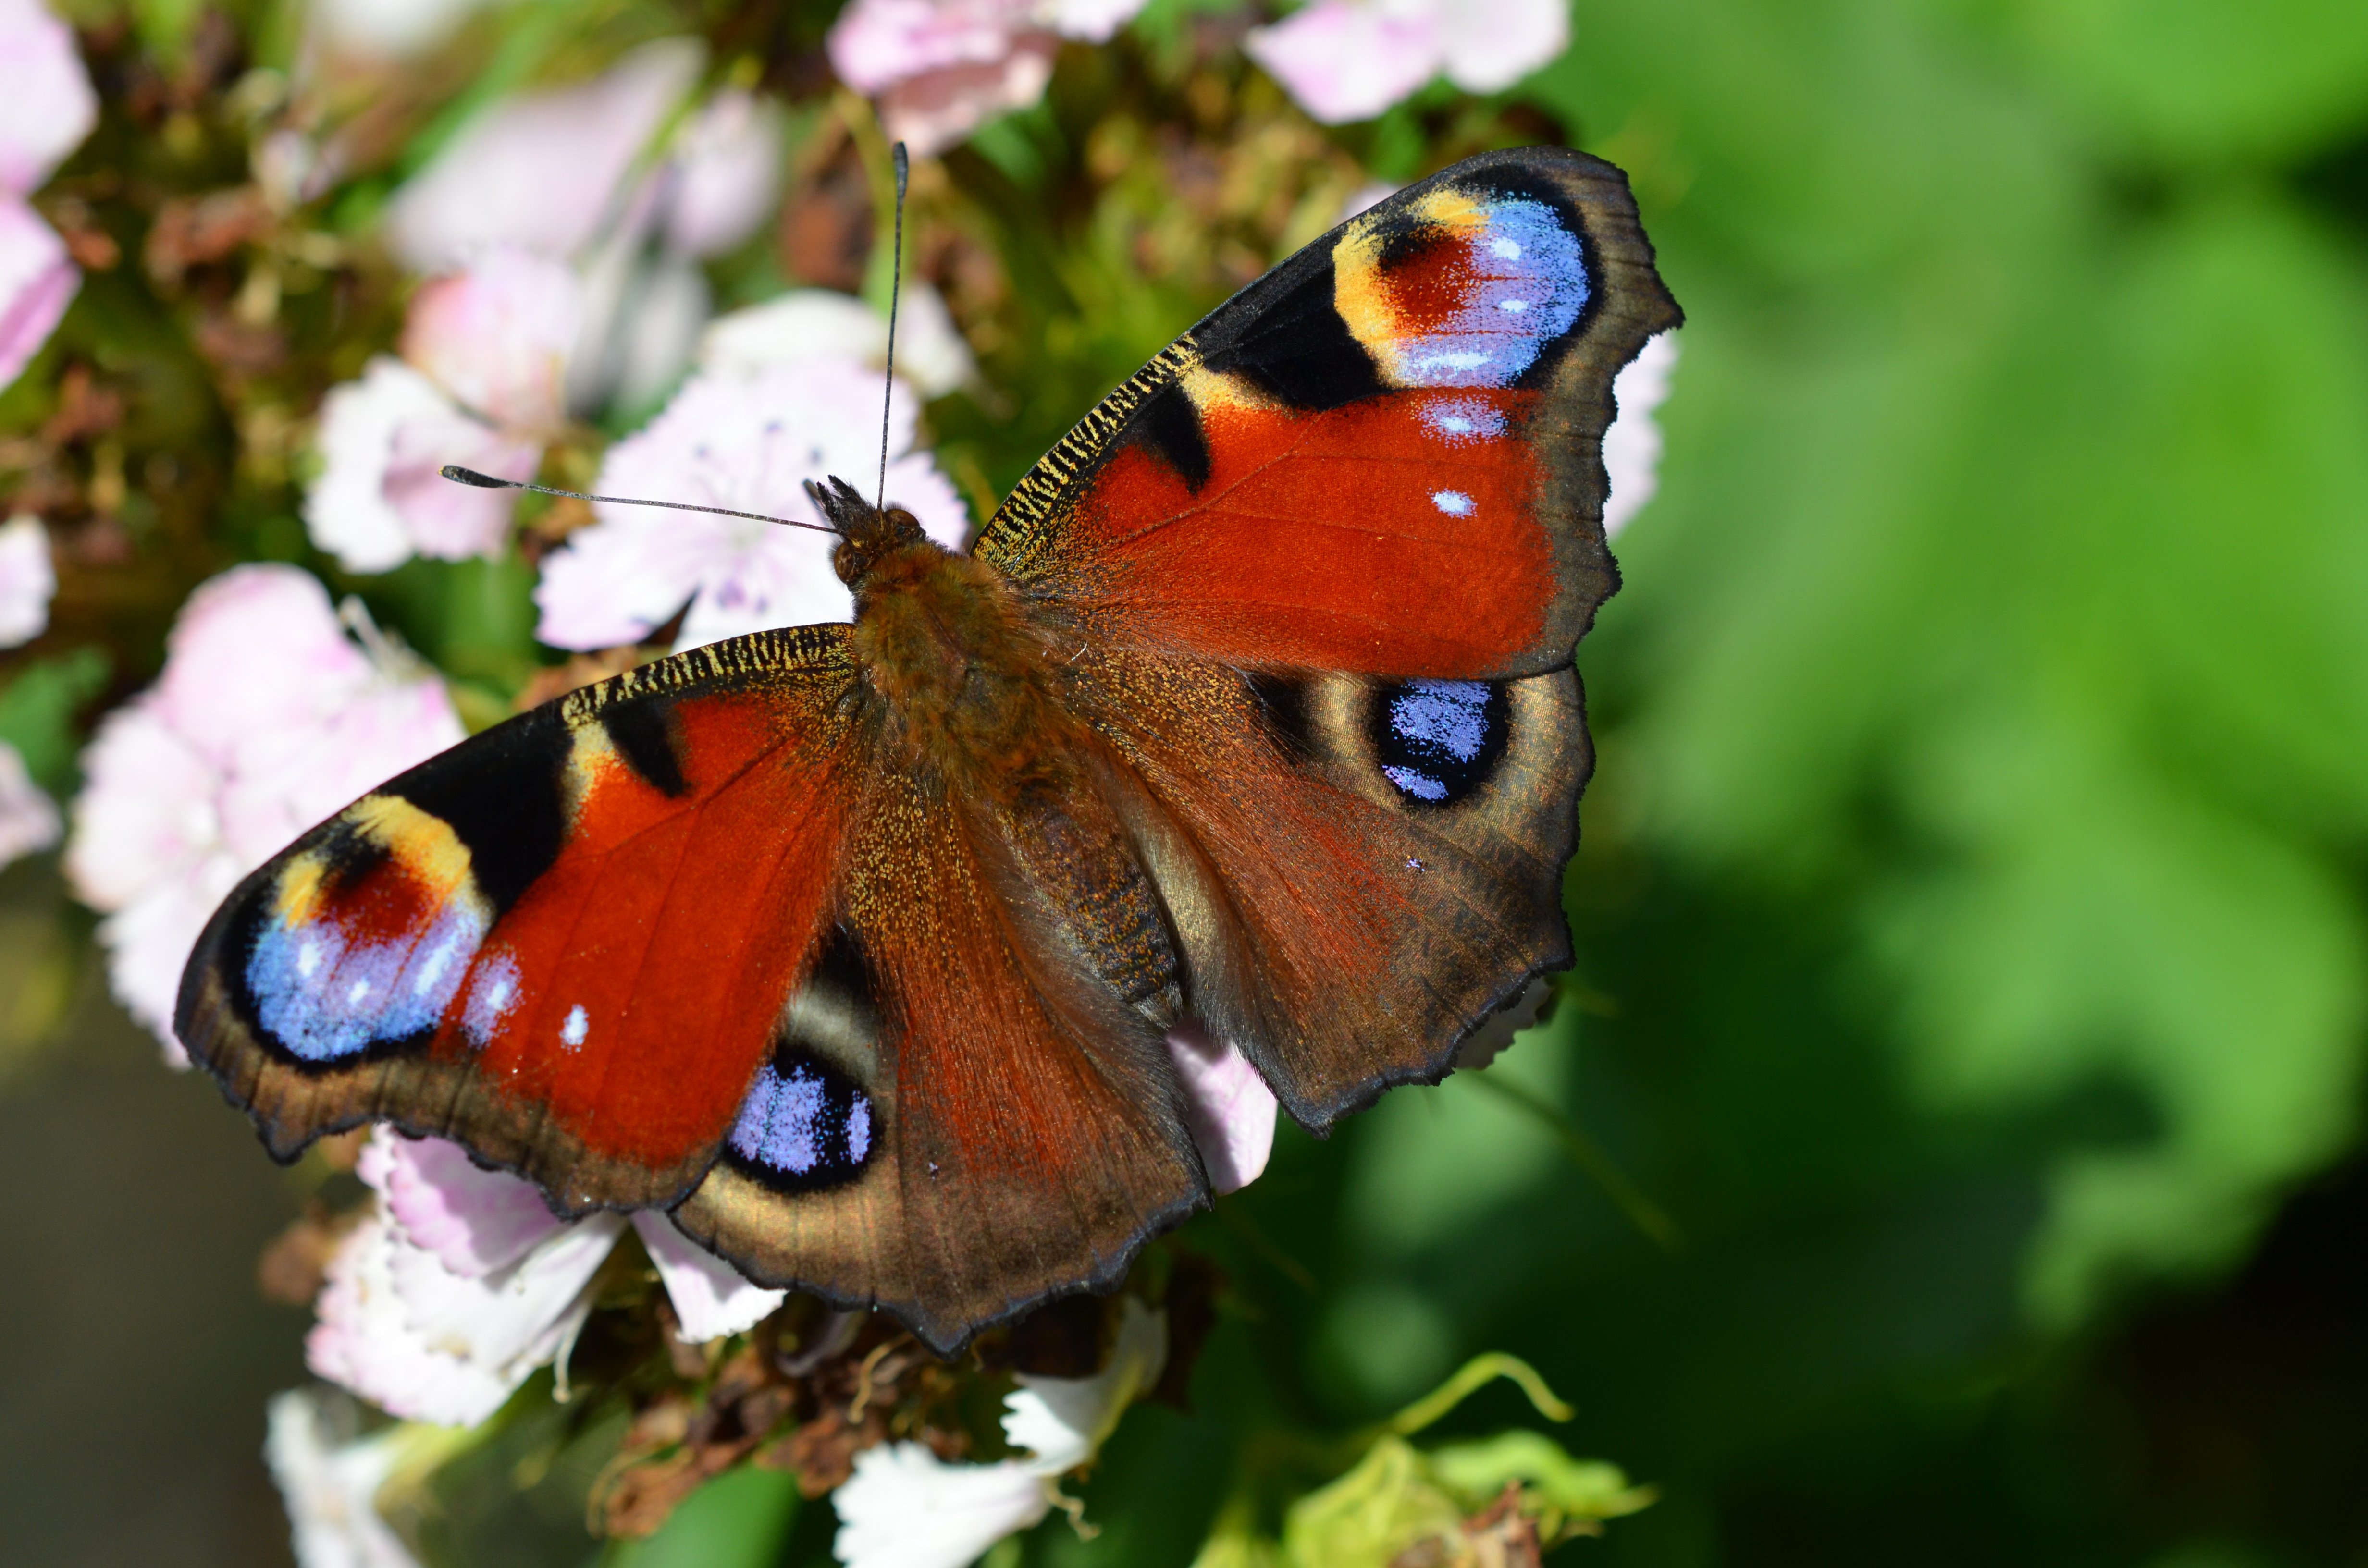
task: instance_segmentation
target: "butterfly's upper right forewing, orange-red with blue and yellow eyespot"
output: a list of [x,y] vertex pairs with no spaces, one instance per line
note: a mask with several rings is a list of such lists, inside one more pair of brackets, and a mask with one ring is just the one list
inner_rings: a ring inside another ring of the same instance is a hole
[[1561,668],[1617,583],[1613,374],[1679,322],[1627,180],[1471,159],[1307,246],[1111,393],[980,559],[1080,632],[1243,668]]

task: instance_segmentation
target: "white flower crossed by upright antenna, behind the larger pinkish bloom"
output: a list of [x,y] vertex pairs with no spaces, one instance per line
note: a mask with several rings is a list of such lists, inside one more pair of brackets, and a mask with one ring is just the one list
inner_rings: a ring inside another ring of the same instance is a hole
[[[888,322],[879,310],[836,289],[791,289],[708,322],[699,367],[755,377],[805,360],[888,362]],[[942,398],[978,374],[945,296],[907,279],[897,303],[895,369],[924,398]]]

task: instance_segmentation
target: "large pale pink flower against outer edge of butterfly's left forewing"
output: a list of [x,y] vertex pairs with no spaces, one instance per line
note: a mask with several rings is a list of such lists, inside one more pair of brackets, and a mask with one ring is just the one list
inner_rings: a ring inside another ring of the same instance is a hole
[[365,654],[313,576],[237,566],[189,595],[159,682],[83,753],[66,846],[114,992],[168,1061],[180,971],[239,876],[459,739],[443,682]]

